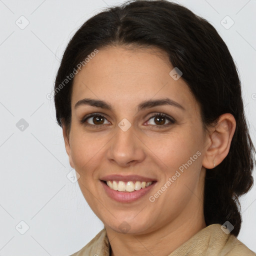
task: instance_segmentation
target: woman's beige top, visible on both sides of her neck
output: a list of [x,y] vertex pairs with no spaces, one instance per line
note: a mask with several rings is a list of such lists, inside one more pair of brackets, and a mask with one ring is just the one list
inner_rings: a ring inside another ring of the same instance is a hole
[[[220,224],[211,224],[180,245],[168,256],[256,256],[233,234],[226,234]],[[110,244],[105,229],[70,256],[110,256]]]

